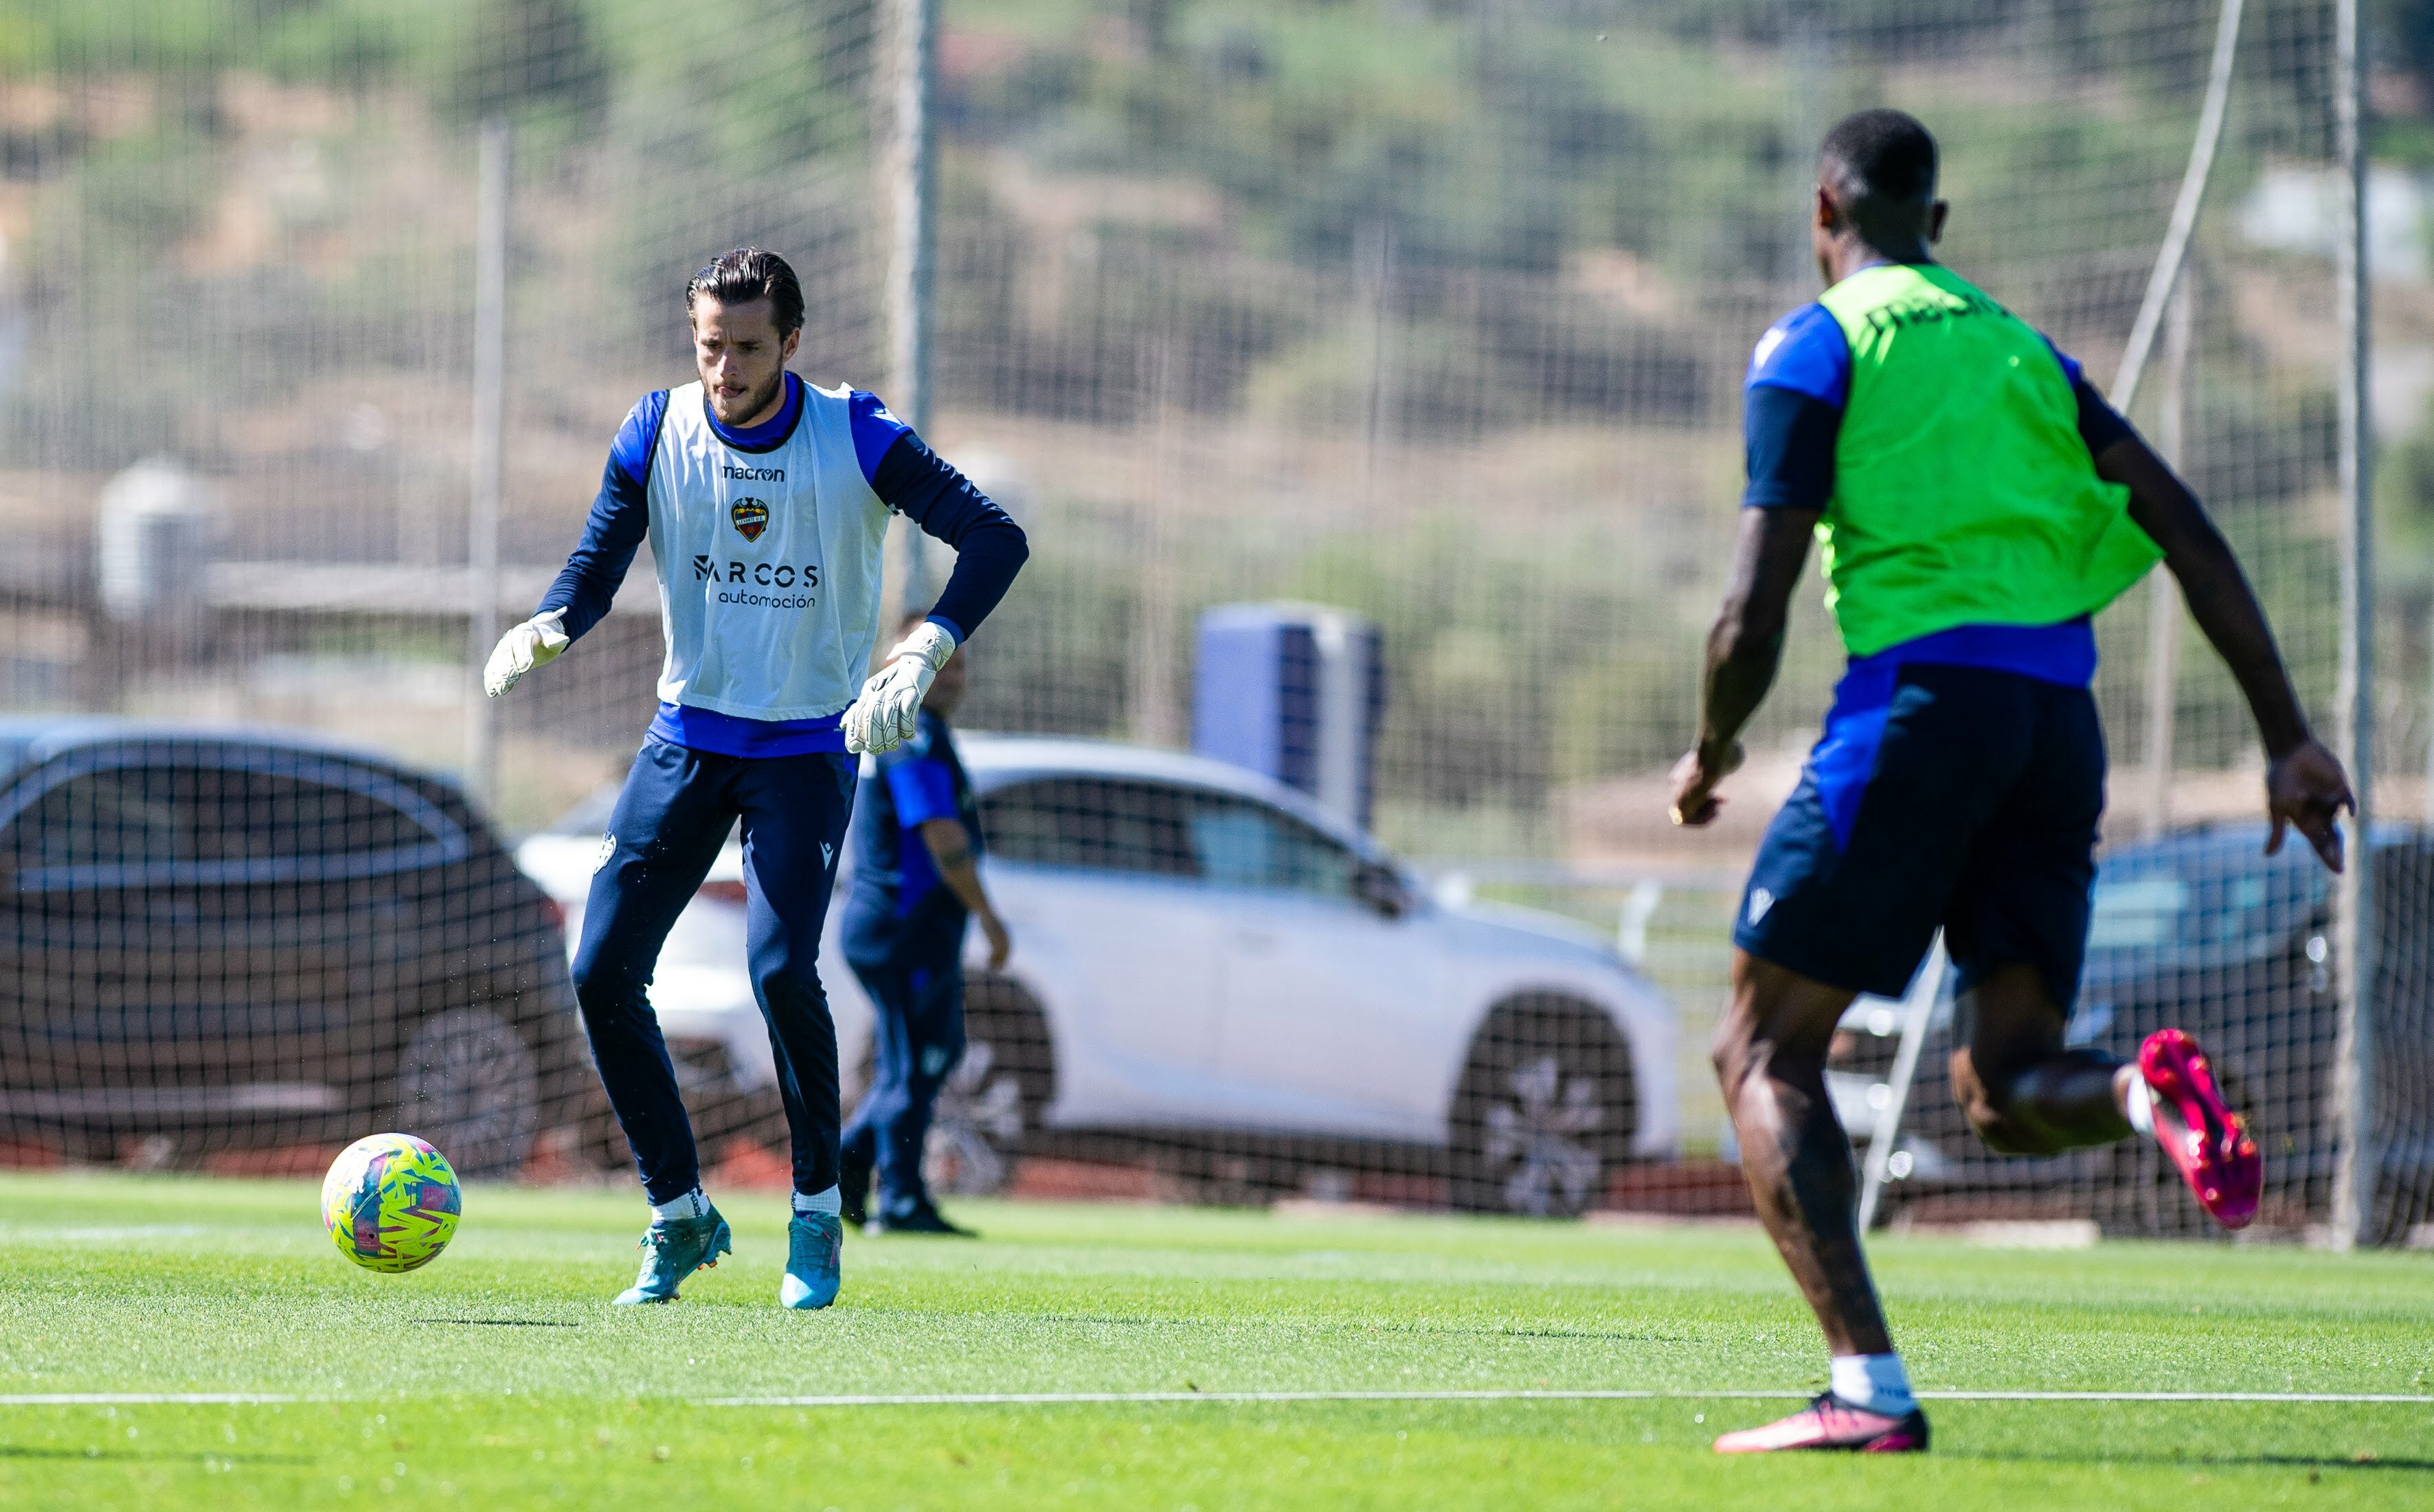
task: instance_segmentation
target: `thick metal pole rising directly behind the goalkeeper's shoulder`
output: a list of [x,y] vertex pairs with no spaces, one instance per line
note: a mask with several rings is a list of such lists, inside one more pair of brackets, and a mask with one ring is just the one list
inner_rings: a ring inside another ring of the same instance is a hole
[[[888,129],[888,190],[893,224],[888,238],[888,408],[905,425],[930,430],[930,301],[937,265],[937,124],[930,100],[937,88],[937,0],[893,0],[896,119]],[[930,600],[920,535],[896,525],[896,593],[881,649],[893,644],[893,620],[908,605]]]

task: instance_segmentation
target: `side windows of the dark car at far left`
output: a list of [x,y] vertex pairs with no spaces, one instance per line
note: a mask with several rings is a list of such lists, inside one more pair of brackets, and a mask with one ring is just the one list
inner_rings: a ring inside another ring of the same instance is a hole
[[[333,768],[333,775],[336,768]],[[19,873],[112,865],[329,863],[441,841],[365,788],[236,766],[105,766],[56,783],[7,829]]]

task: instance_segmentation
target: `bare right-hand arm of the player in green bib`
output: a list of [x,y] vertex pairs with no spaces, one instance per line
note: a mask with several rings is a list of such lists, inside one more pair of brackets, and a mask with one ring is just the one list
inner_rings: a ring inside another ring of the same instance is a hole
[[2178,579],[2191,617],[2249,700],[2266,744],[2266,817],[2273,819],[2266,853],[2281,851],[2283,831],[2298,826],[2324,865],[2342,870],[2342,829],[2334,819],[2342,809],[2356,814],[2359,800],[2349,792],[2342,761],[2307,729],[2307,715],[2273,644],[2273,627],[2239,571],[2232,545],[2188,484],[2137,435],[2122,435],[2098,452],[2096,472],[2130,489],[2130,518],[2164,547],[2164,566]]

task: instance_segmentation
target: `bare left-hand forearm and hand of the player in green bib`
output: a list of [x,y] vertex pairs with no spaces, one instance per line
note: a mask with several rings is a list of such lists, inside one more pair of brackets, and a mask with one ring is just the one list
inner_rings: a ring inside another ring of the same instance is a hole
[[1733,579],[1706,632],[1706,676],[1699,690],[1699,744],[1675,763],[1672,822],[1706,824],[1721,809],[1716,785],[1740,766],[1740,729],[1765,703],[1784,661],[1784,622],[1799,586],[1813,508],[1745,508],[1733,547]]

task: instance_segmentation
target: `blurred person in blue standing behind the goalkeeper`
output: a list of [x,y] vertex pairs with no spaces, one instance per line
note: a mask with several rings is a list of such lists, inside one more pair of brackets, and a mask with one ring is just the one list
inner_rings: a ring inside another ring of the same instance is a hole
[[[905,617],[908,630],[918,622]],[[988,936],[988,970],[1003,970],[1015,948],[981,887],[981,809],[947,727],[966,688],[957,649],[922,698],[913,739],[862,758],[845,960],[871,997],[874,1077],[845,1125],[840,1191],[845,1220],[869,1232],[971,1237],[940,1215],[920,1169],[937,1094],[964,1057],[969,921]]]

